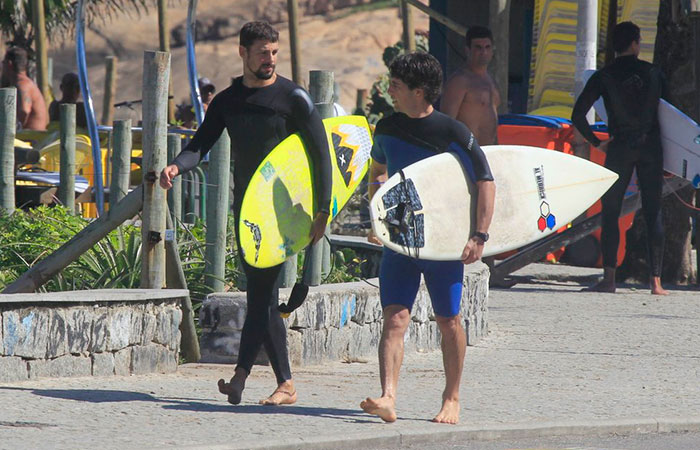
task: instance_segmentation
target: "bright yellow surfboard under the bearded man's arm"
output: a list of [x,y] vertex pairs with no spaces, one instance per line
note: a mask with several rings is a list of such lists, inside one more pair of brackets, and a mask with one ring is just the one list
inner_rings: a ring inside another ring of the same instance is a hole
[[[372,136],[363,116],[325,119],[333,171],[330,222],[367,173]],[[272,267],[306,247],[313,221],[311,159],[299,133],[280,142],[248,184],[239,218],[241,251],[254,267]]]

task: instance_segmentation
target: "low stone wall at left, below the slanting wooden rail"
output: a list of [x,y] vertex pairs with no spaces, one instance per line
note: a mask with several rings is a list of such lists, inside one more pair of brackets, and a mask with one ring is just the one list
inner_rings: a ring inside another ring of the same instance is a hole
[[0,295],[0,381],[174,372],[181,290]]

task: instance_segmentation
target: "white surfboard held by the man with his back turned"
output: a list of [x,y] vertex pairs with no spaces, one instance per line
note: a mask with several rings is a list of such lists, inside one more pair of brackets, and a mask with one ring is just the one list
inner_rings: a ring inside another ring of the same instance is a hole
[[[586,70],[583,82],[588,83],[594,73],[595,70]],[[601,120],[608,123],[608,112],[602,97],[596,100],[593,107]],[[700,188],[700,125],[661,99],[659,127],[664,151],[664,170],[690,181],[695,189]]]

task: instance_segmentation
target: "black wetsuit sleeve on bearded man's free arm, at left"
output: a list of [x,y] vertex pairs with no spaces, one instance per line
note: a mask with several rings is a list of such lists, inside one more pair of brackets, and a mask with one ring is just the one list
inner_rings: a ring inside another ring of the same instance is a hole
[[189,144],[170,163],[177,166],[180,175],[197,167],[202,158],[221,137],[221,133],[226,128],[223,117],[221,98],[216,96],[207,108],[202,126],[199,127]]

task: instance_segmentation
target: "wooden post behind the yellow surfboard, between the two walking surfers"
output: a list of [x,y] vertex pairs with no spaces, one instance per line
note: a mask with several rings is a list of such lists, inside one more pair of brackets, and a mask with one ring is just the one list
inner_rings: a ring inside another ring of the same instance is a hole
[[[309,94],[322,119],[333,117],[333,72],[312,70],[309,72]],[[326,227],[326,235],[328,228]],[[324,238],[306,249],[303,283],[307,286],[321,284],[323,252],[330,251]],[[330,260],[330,259],[329,259]]]

